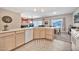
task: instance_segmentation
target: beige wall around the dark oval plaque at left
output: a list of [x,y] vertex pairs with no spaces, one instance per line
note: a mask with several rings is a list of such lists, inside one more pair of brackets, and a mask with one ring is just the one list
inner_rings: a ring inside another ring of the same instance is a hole
[[12,17],[12,23],[8,24],[8,29],[16,29],[20,28],[21,26],[21,16],[19,13],[15,13],[12,11],[8,11],[5,9],[0,9],[0,30],[4,29],[5,23],[2,21],[3,16],[10,16]]

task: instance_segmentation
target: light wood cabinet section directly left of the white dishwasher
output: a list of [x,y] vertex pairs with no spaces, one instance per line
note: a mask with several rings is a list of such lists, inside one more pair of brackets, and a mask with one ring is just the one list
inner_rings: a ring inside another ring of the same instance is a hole
[[16,47],[24,44],[24,31],[16,32]]

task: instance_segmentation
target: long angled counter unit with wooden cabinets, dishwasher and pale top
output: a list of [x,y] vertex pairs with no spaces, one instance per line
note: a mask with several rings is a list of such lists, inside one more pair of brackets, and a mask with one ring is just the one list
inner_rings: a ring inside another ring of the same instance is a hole
[[34,39],[54,39],[53,27],[30,27],[0,31],[0,50],[12,50]]

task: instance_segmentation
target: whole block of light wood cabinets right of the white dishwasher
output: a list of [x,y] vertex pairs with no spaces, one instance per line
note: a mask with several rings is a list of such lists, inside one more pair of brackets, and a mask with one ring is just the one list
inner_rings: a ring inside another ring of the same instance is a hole
[[54,38],[54,29],[52,28],[35,28],[33,29],[34,39],[46,38],[53,40]]

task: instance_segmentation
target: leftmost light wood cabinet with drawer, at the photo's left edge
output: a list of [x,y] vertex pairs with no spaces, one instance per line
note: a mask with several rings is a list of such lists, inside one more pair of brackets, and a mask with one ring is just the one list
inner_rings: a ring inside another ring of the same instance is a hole
[[11,50],[15,48],[15,32],[0,34],[0,50]]

